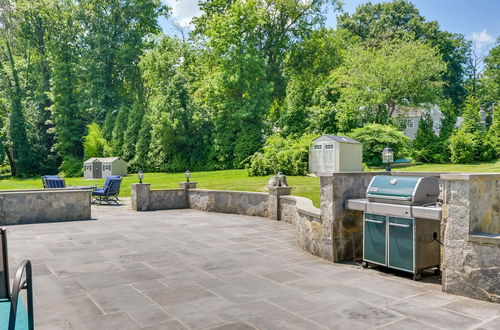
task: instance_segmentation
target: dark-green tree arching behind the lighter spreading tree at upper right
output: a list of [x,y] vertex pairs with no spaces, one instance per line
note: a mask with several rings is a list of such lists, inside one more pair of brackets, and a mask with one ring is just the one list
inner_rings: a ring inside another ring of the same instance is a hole
[[442,31],[436,21],[426,21],[409,1],[398,0],[362,4],[349,15],[337,19],[338,28],[348,30],[353,37],[368,46],[388,40],[415,40],[437,50],[446,63],[442,72],[443,96],[455,107],[461,106],[466,91],[463,85],[470,42],[461,34]]

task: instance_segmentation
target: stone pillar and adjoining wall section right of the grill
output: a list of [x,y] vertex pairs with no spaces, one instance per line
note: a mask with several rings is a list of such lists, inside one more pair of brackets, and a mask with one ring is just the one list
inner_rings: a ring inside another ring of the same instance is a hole
[[443,174],[443,291],[500,303],[500,174]]

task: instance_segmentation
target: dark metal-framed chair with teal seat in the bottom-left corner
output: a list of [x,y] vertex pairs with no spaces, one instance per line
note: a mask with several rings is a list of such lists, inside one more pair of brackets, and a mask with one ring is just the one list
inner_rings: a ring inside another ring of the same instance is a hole
[[[10,292],[9,261],[7,258],[7,230],[0,228],[0,329],[33,330],[33,281],[31,262],[24,260],[17,268],[14,287]],[[28,310],[19,299],[26,289]]]

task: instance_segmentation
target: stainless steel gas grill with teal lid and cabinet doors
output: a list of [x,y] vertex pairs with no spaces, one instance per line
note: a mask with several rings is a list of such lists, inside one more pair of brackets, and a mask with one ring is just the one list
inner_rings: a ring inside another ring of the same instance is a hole
[[347,201],[347,209],[363,211],[363,267],[382,265],[414,274],[439,272],[441,208],[439,181],[434,177],[373,177],[366,199]]

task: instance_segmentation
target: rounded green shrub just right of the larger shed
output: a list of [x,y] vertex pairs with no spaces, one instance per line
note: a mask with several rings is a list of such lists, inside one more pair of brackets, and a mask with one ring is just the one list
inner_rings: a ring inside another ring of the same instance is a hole
[[408,156],[410,138],[391,125],[368,124],[348,134],[363,144],[363,162],[368,166],[382,165],[382,150],[389,146],[394,159]]

